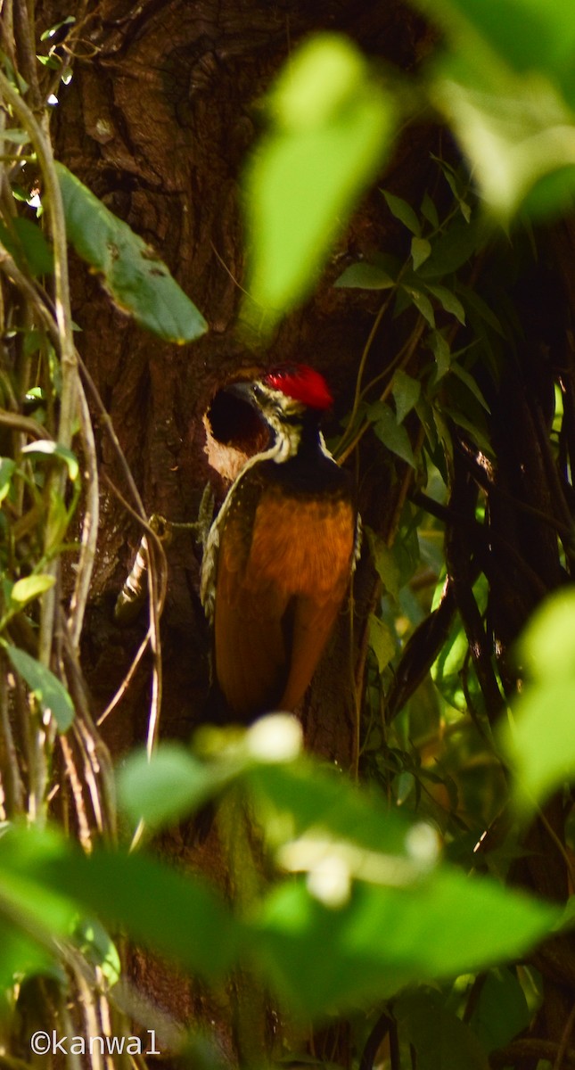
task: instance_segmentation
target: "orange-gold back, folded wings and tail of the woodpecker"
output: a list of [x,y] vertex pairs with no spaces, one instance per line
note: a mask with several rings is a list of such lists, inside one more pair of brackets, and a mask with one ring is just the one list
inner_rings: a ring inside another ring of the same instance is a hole
[[247,534],[230,515],[215,610],[216,675],[242,718],[293,709],[304,697],[345,596],[355,513],[342,499],[306,500],[271,487]]

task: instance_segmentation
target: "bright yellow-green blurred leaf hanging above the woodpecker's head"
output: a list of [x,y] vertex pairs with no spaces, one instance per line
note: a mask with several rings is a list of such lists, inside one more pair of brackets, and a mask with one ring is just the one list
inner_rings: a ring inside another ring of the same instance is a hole
[[[305,108],[294,105],[305,97]],[[268,113],[271,123],[248,164],[244,193],[249,290],[271,321],[315,281],[389,150],[394,107],[356,46],[324,34],[292,57]]]

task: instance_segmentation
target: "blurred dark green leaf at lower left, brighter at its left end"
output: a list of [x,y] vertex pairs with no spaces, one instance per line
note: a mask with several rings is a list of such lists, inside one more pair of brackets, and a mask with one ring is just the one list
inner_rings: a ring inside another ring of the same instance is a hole
[[[86,912],[88,928],[95,915],[208,980],[220,980],[237,958],[243,929],[217,892],[143,852],[99,847],[87,856],[53,829],[11,829],[0,838],[0,911],[7,882],[22,920],[37,918],[55,936],[76,932],[81,942],[78,913]],[[91,943],[113,969],[99,928]]]

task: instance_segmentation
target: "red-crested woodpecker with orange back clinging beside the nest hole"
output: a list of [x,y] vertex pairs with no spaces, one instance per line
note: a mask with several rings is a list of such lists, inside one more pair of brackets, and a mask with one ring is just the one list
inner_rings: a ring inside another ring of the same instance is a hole
[[276,368],[229,389],[254,406],[269,447],[250,458],[209,531],[201,598],[214,674],[250,721],[299,704],[345,598],[357,547],[353,480],[320,424],[332,398],[313,368]]

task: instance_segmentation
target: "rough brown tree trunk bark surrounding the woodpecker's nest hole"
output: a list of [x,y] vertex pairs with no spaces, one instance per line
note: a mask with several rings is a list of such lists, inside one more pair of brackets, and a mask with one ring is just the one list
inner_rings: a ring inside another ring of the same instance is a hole
[[[42,4],[42,27],[67,14],[59,0]],[[342,240],[324,282],[279,331],[266,353],[249,352],[235,334],[243,278],[238,175],[258,127],[258,100],[291,48],[314,29],[344,30],[368,54],[405,67],[426,48],[426,31],[395,2],[361,7],[329,3],[177,2],[97,4],[89,11],[74,78],[55,117],[59,157],[154,245],[209,323],[192,347],[161,345],[115,311],[97,278],[79,262],[73,271],[74,316],[82,357],[111,415],[149,513],[195,520],[205,484],[224,485],[209,465],[203,422],[218,389],[242,368],[291,358],[324,370],[337,398],[332,430],[348,410],[357,362],[376,306],[330,288],[360,253],[385,244],[380,195],[369,195]],[[428,147],[435,135],[411,134],[394,169],[405,196],[422,190]],[[422,147],[424,147],[422,149]],[[390,180],[394,181],[393,175]],[[385,361],[386,340],[374,350]],[[392,342],[389,343],[392,352]],[[327,428],[329,432],[329,428]],[[248,434],[249,438],[249,434]],[[251,448],[252,441],[248,442]],[[242,443],[238,443],[242,445]],[[100,472],[125,490],[105,433]],[[364,513],[393,518],[397,489],[387,475],[366,483]],[[83,645],[83,668],[96,712],[127,671],[144,624],[120,630],[114,598],[134,557],[137,525],[104,484],[98,562]],[[373,494],[375,488],[375,496]],[[372,502],[367,505],[367,502]],[[388,523],[391,523],[391,519]],[[207,690],[207,637],[198,598],[200,551],[191,536],[168,549],[169,588],[162,617],[161,736],[187,738],[201,718]],[[358,574],[358,639],[374,597],[369,562]],[[342,621],[304,712],[308,746],[349,767],[356,747],[353,657],[348,620]],[[145,733],[149,674],[143,666],[125,700],[104,725],[115,758]],[[186,866],[200,867],[222,886],[229,874],[213,837],[191,847],[184,830],[164,844]],[[283,1026],[249,980],[236,978],[218,999],[176,979],[136,953],[138,987],[181,1022],[208,1024],[224,1061],[249,1065],[271,1050],[281,1054]],[[247,1010],[249,1008],[249,1013]],[[215,1023],[215,1024],[214,1024]],[[238,1023],[243,1023],[238,1025]],[[332,1046],[332,1038],[325,1040]],[[326,1049],[327,1050],[327,1049]]]

